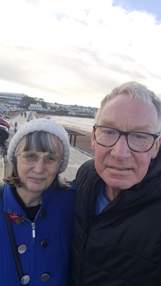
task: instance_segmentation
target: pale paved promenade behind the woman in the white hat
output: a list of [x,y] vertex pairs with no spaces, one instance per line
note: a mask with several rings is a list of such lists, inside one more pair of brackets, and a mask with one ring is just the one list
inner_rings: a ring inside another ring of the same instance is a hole
[[[4,151],[5,149],[8,148],[9,142],[15,133],[15,122],[17,122],[17,130],[18,130],[19,128],[24,126],[24,124],[26,124],[26,119],[28,118],[28,115],[29,112],[27,112],[27,117],[24,118],[24,116],[21,117],[21,114],[19,114],[10,120],[10,137],[8,138],[8,140],[5,141]],[[91,158],[93,158],[92,155],[87,154],[84,151],[80,151],[80,149],[77,149],[74,146],[71,146],[69,165],[66,171],[60,174],[60,176],[62,178],[66,178],[67,180],[73,180],[76,176],[76,171],[78,167],[80,167],[80,165],[82,165],[83,162],[90,160]],[[8,176],[10,174],[10,171],[11,171],[11,166],[8,163],[7,155],[6,154],[0,155],[0,180],[2,180],[4,176]]]

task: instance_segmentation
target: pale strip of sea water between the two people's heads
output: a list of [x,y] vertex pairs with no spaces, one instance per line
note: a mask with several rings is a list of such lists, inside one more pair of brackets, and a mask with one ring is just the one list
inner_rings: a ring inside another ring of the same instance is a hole
[[92,126],[94,125],[94,118],[85,117],[69,117],[60,115],[50,115],[50,119],[56,121],[60,125],[65,125],[78,128],[80,130],[92,132]]

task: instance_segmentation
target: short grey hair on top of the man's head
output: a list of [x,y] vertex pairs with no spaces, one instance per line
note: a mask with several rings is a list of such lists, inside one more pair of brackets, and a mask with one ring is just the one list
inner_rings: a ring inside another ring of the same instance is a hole
[[120,85],[119,87],[115,87],[115,89],[112,90],[110,94],[104,97],[104,99],[101,101],[101,106],[99,110],[96,112],[96,117],[95,117],[96,123],[99,119],[99,115],[101,114],[101,111],[103,110],[105,104],[108,101],[115,99],[115,97],[119,96],[120,94],[128,94],[130,96],[130,99],[139,99],[144,102],[152,102],[158,113],[159,125],[161,125],[160,98],[156,96],[155,93],[149,90],[146,86],[142,85],[141,83],[137,83],[135,81],[130,81],[128,83]]

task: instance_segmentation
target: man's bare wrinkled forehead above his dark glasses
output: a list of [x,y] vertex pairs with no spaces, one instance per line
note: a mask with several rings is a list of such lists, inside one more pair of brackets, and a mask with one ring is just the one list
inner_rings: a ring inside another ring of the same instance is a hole
[[158,113],[153,103],[130,99],[124,94],[105,104],[96,123],[129,131],[158,132],[159,128]]

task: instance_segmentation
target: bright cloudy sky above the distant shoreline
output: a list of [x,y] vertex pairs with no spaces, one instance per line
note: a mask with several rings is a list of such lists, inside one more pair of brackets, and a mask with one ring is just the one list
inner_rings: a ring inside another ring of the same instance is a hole
[[0,92],[99,108],[138,81],[161,98],[161,1],[0,3]]

